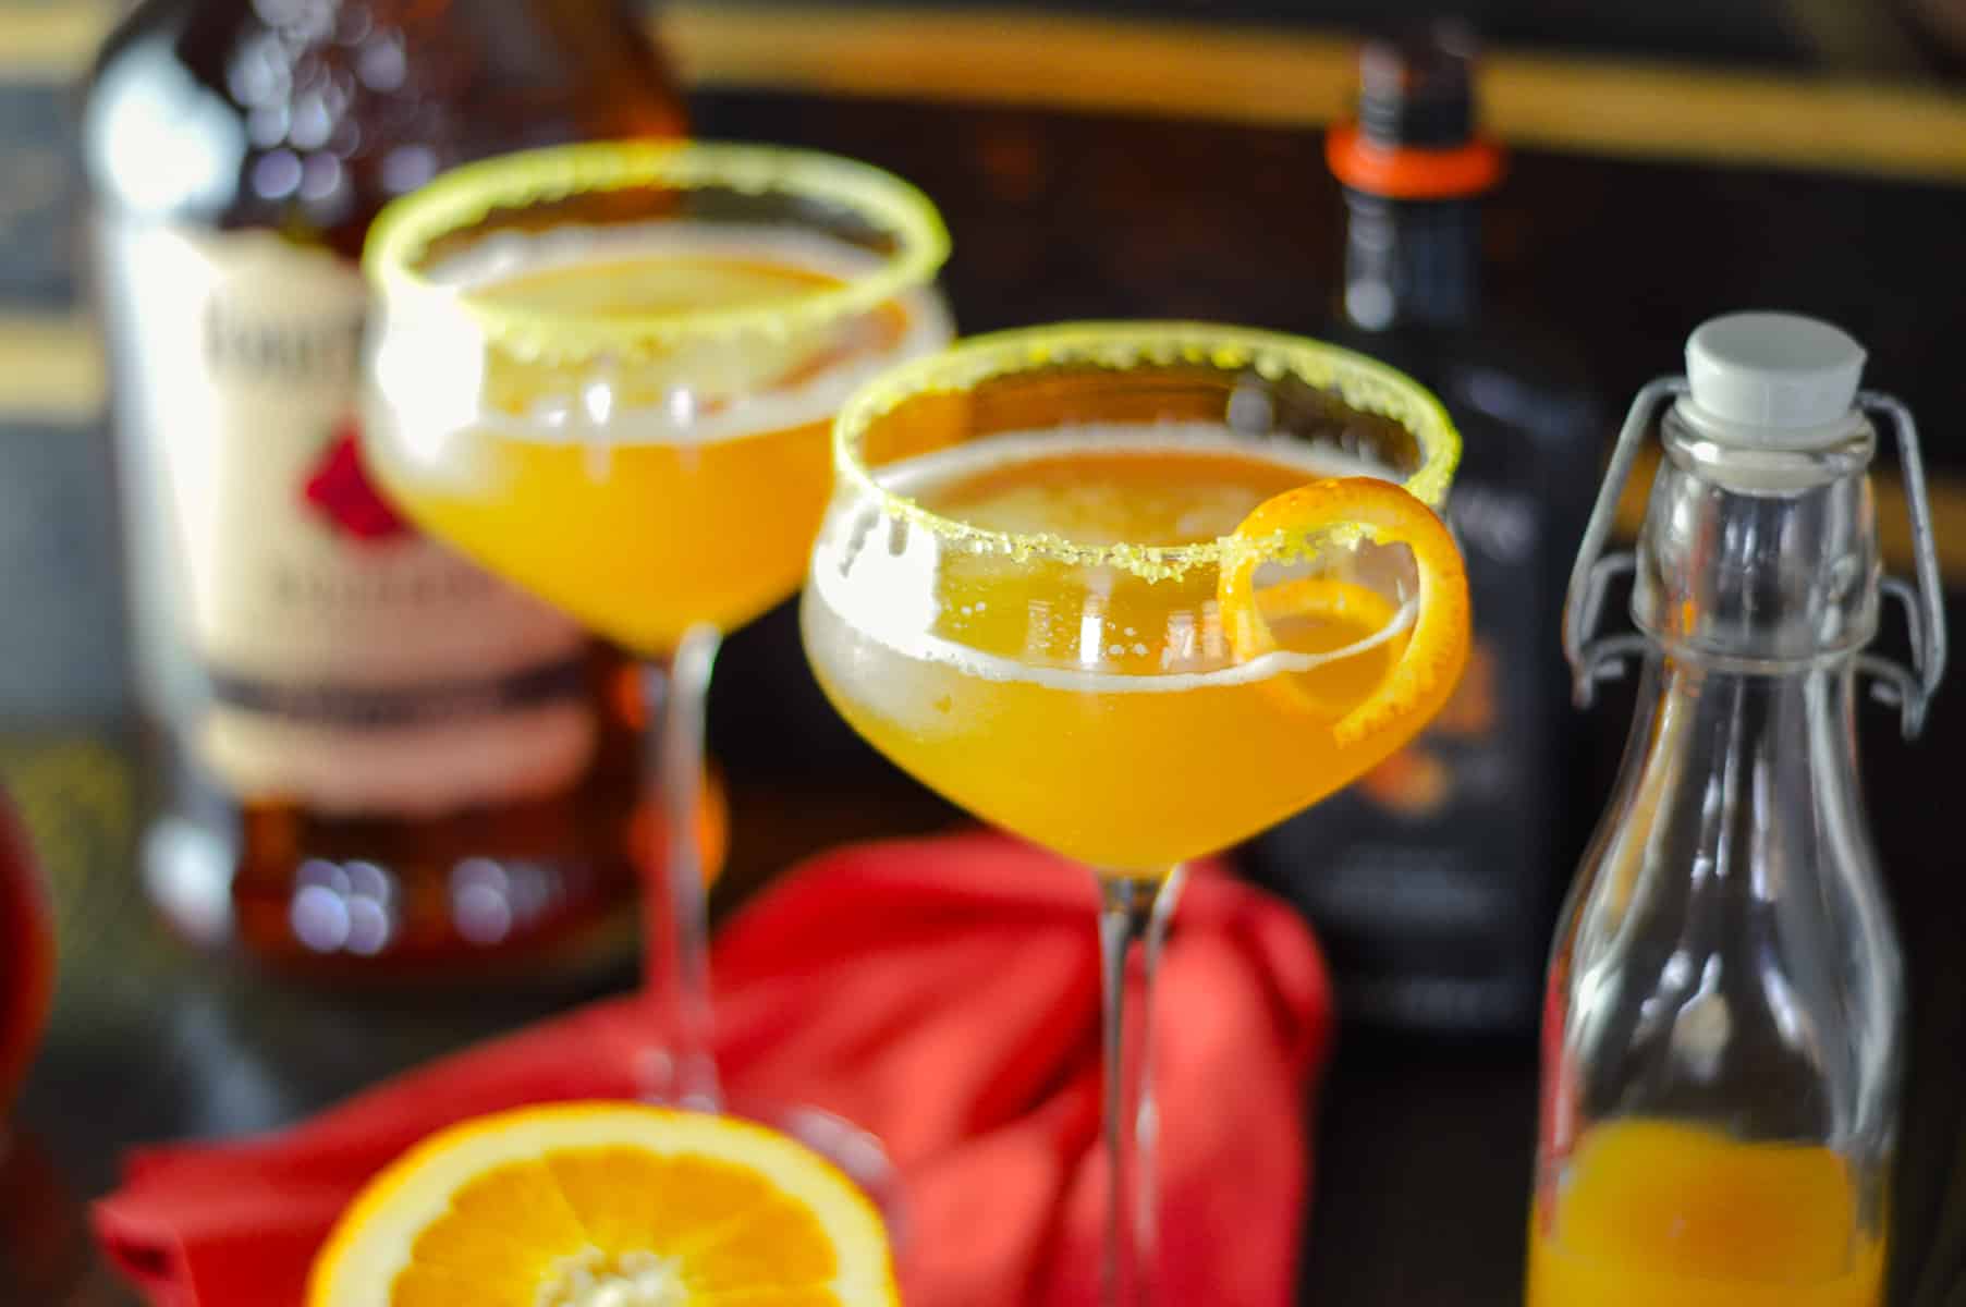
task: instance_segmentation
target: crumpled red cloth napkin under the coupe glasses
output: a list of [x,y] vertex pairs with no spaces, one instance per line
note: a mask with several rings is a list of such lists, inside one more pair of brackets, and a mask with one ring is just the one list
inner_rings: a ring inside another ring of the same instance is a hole
[[[910,1307],[1097,1301],[1099,969],[1083,869],[989,833],[843,849],[741,912],[714,967],[731,1097],[810,1103],[887,1144]],[[1154,1012],[1164,1301],[1290,1301],[1329,1012],[1298,918],[1197,867]],[[629,1097],[645,1034],[635,998],[602,1002],[263,1140],[138,1152],[94,1207],[96,1236],[161,1307],[293,1307],[368,1175],[464,1116]]]

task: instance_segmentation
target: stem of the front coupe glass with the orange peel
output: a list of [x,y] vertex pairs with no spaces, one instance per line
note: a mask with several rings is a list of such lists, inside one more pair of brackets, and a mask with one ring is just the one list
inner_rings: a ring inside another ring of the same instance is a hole
[[[1105,1307],[1150,1307],[1154,1193],[1154,973],[1182,869],[1166,877],[1099,877],[1099,955],[1105,987],[1105,1146],[1109,1205]],[[1138,955],[1138,989],[1128,985]],[[1132,998],[1138,998],[1132,1002]]]

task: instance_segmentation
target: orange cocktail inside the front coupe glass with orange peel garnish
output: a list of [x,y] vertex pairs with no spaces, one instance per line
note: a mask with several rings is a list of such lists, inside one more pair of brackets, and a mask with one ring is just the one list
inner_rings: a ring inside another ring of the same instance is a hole
[[[924,509],[1097,546],[1213,546],[1262,501],[1364,468],[1315,446],[1166,425],[993,436],[885,470]],[[1359,582],[1272,621],[1241,660],[1221,566],[1075,566],[955,552],[934,617],[883,629],[822,554],[806,647],[841,715],[969,812],[1103,869],[1166,871],[1229,847],[1386,757],[1331,727],[1406,649],[1402,603]],[[898,590],[898,586],[896,586]],[[1276,613],[1272,613],[1272,619]],[[1325,743],[1319,743],[1325,741]]]

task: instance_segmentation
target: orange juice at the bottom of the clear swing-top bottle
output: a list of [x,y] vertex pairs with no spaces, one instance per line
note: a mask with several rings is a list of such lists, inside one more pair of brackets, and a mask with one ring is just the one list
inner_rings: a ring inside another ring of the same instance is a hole
[[1614,1120],[1530,1230],[1530,1307],[1878,1307],[1883,1242],[1850,1164],[1809,1144]]

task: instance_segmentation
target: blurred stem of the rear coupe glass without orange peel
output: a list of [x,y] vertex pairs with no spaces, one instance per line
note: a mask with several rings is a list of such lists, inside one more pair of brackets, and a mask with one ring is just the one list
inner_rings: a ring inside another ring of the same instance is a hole
[[672,653],[643,662],[645,763],[659,790],[665,847],[649,849],[641,890],[643,987],[663,1044],[641,1063],[641,1097],[702,1112],[723,1110],[712,1053],[710,918],[704,906],[700,818],[704,702],[722,635],[690,627]]

